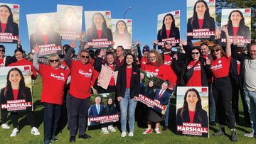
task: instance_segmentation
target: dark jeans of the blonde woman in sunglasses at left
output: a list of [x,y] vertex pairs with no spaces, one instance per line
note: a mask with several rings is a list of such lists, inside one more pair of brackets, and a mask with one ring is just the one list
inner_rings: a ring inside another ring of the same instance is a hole
[[43,113],[43,134],[44,140],[50,140],[56,135],[58,121],[60,120],[61,105],[44,103]]

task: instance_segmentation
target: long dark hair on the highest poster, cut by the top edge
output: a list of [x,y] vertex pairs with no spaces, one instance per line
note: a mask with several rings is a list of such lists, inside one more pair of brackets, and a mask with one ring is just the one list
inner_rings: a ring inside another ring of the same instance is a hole
[[[196,25],[196,23],[198,23],[198,16],[197,16],[197,13],[196,13],[196,4],[198,4],[200,2],[203,3],[206,6],[206,11],[205,11],[204,19],[210,18],[209,7],[208,7],[206,1],[204,1],[204,0],[196,1],[195,5],[194,5],[194,8],[193,8],[193,16],[192,16],[192,20],[191,20],[192,28],[193,28],[193,26]],[[210,27],[210,24],[213,24],[213,23],[208,23],[208,21],[205,21],[205,20],[203,22],[206,23],[206,26],[208,26],[208,27]]]

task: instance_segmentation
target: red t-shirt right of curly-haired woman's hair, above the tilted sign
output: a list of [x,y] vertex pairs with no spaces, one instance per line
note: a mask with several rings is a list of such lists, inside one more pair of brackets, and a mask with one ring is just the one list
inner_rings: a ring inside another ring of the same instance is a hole
[[174,70],[171,68],[171,65],[161,65],[159,67],[159,73],[157,75],[159,79],[168,80],[170,82],[169,88],[174,89],[174,86],[177,85],[177,76]]

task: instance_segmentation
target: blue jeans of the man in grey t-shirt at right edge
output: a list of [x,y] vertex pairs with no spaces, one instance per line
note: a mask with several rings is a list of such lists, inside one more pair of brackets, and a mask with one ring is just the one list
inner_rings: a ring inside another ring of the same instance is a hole
[[248,107],[248,112],[250,113],[250,121],[252,131],[256,132],[256,92],[247,91],[244,89],[245,101]]

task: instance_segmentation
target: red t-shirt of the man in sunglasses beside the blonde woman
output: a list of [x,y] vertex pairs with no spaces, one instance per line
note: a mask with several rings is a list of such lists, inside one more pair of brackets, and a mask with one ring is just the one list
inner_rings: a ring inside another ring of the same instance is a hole
[[72,60],[70,65],[70,94],[78,99],[90,96],[90,87],[95,84],[98,72],[90,63],[83,65],[79,60]]

